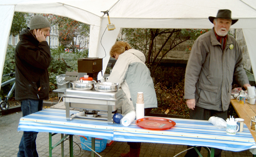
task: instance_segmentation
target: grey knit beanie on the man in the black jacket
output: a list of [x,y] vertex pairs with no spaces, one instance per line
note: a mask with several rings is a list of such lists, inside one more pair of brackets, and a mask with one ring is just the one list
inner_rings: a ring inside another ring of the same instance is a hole
[[30,30],[34,29],[41,29],[41,28],[46,28],[46,27],[51,27],[50,22],[42,15],[36,15],[32,17],[30,20],[29,28]]

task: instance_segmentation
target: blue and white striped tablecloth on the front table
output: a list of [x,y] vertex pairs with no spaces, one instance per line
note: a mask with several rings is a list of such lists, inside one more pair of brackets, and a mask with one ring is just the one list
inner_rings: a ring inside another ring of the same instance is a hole
[[[79,111],[70,111],[71,114]],[[244,131],[231,136],[208,121],[167,118],[176,122],[168,130],[154,131],[138,127],[135,121],[128,127],[95,119],[66,120],[65,110],[45,109],[20,118],[18,131],[64,133],[104,138],[114,141],[152,142],[191,146],[208,146],[234,152],[256,148],[255,141],[244,124]]]

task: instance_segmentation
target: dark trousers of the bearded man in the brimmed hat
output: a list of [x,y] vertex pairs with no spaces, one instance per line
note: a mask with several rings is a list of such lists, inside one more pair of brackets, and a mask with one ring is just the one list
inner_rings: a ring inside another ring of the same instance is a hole
[[[212,117],[220,117],[224,120],[227,119],[227,110],[226,111],[215,111],[215,110],[208,110],[202,107],[196,106],[194,110],[190,110],[189,112],[189,119],[197,119],[197,120],[207,120]],[[191,148],[192,146],[188,146]],[[202,147],[197,147],[198,151],[200,152]],[[221,157],[222,149],[214,149],[214,157]],[[198,157],[195,149],[189,149],[184,157]]]

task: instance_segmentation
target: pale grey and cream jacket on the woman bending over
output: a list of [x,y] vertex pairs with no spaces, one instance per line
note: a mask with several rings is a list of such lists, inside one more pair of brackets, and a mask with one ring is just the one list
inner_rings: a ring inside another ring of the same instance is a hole
[[108,82],[119,83],[126,94],[122,114],[136,109],[137,93],[143,92],[145,108],[157,107],[154,83],[146,64],[146,58],[139,50],[130,49],[120,54]]

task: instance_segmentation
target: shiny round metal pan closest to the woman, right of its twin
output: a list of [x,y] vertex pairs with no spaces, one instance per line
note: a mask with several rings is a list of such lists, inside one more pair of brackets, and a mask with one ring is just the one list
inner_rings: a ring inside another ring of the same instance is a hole
[[94,90],[103,91],[103,92],[111,92],[118,90],[118,83],[111,82],[99,82],[94,84]]

